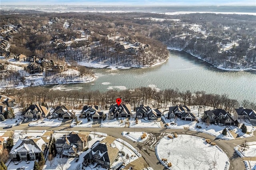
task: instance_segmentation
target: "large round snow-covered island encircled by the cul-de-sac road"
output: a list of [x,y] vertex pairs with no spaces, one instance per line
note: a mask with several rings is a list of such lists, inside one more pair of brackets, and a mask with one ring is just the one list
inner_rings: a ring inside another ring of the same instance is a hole
[[156,146],[156,155],[165,166],[171,162],[171,170],[228,170],[230,166],[228,156],[218,146],[184,134],[173,139],[164,136]]

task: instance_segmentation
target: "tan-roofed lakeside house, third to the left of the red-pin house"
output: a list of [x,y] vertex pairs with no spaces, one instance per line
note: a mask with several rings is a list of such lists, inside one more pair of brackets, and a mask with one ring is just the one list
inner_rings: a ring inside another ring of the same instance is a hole
[[48,107],[44,107],[42,105],[30,105],[26,111],[24,111],[23,115],[26,118],[44,118],[47,117],[50,113],[50,109]]

